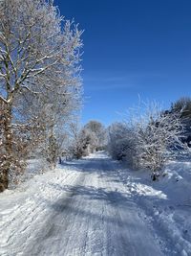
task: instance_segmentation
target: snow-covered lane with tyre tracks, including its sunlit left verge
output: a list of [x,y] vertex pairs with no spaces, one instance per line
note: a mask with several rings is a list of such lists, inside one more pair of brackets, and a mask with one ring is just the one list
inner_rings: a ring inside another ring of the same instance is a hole
[[45,177],[39,191],[34,182],[33,191],[20,192],[16,201],[7,195],[8,210],[0,212],[0,255],[164,255],[116,165],[103,153]]

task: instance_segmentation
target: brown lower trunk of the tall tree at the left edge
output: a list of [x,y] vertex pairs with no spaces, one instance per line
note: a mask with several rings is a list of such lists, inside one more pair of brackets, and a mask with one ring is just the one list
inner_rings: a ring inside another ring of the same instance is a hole
[[5,156],[0,174],[0,192],[8,188],[9,173],[12,164],[12,133],[11,133],[11,105],[5,106],[4,120]]

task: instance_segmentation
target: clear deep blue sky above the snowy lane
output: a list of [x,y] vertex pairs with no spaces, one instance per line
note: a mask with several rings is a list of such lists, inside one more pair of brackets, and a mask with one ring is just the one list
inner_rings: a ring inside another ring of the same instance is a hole
[[191,96],[190,0],[56,0],[82,36],[82,123],[121,119],[138,95],[164,107]]

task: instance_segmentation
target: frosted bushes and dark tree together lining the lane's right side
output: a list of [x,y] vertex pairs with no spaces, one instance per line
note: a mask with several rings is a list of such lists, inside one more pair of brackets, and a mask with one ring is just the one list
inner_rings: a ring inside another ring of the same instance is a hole
[[169,160],[190,157],[191,99],[180,98],[169,110],[156,103],[139,105],[127,119],[108,128],[108,151],[132,169],[147,169],[153,180]]

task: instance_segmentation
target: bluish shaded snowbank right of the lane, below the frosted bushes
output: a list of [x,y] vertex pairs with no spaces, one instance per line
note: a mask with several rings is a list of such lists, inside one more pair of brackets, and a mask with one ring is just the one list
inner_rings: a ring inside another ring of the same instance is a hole
[[191,255],[191,162],[168,163],[159,181],[145,171],[121,168],[118,175],[144,218],[172,244],[172,255]]

